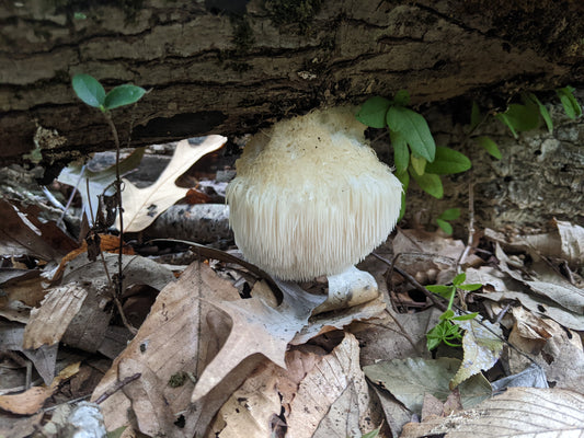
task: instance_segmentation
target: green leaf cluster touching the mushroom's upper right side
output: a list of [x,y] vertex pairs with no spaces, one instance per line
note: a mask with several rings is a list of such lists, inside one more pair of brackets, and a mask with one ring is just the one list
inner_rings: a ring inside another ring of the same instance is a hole
[[410,94],[400,90],[393,100],[381,96],[367,100],[356,114],[357,120],[364,125],[389,129],[396,176],[404,188],[400,217],[405,210],[404,196],[410,178],[424,192],[439,199],[444,196],[440,176],[471,168],[470,160],[462,153],[436,146],[426,119],[408,108],[409,103]]

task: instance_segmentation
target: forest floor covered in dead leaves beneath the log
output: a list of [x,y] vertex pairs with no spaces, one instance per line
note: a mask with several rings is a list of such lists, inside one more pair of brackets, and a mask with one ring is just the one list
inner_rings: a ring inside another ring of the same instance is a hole
[[[199,160],[221,145],[183,142],[125,182],[122,256],[96,197],[111,166],[70,166],[45,191],[2,170],[0,437],[584,434],[583,228],[398,227],[358,265],[379,293],[312,314],[325,279],[239,261],[229,170]],[[77,209],[51,205],[75,186]]]

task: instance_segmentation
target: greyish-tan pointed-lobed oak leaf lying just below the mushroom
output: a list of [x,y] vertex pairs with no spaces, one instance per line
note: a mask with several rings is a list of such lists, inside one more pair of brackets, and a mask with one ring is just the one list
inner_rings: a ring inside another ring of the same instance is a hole
[[294,283],[278,281],[283,301],[272,308],[260,298],[211,301],[229,315],[231,332],[217,356],[207,365],[193,391],[194,403],[205,396],[245,358],[261,354],[286,368],[285,354],[296,334],[308,324],[312,310],[325,297],[312,296]]

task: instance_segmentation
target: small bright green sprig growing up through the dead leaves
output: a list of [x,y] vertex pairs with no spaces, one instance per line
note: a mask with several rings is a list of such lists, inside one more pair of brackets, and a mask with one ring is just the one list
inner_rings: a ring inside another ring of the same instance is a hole
[[459,347],[459,342],[462,339],[462,333],[457,324],[457,321],[472,320],[478,315],[478,313],[474,312],[457,316],[453,310],[457,289],[472,291],[482,287],[481,284],[465,285],[463,283],[466,279],[467,275],[462,273],[458,274],[453,279],[453,285],[450,286],[426,286],[426,289],[431,292],[439,295],[448,300],[448,308],[440,315],[440,321],[430,332],[426,333],[426,346],[428,350],[433,350],[442,343],[449,345],[450,347]]

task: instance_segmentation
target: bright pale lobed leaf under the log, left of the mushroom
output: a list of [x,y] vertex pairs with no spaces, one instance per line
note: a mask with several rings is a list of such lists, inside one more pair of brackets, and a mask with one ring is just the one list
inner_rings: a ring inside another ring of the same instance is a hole
[[[157,182],[148,187],[138,188],[124,180],[122,204],[124,206],[124,231],[137,232],[147,228],[167,208],[184,197],[187,189],[174,184],[174,181],[188,170],[203,155],[219,149],[227,139],[213,135],[203,143],[191,146],[188,140],[176,145],[171,162]],[[119,221],[117,221],[119,227]]]

